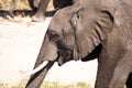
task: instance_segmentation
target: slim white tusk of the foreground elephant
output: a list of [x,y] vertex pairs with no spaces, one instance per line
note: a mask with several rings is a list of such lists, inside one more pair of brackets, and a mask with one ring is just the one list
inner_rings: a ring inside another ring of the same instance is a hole
[[26,77],[26,76],[30,76],[30,75],[33,75],[33,74],[37,73],[38,70],[44,68],[44,66],[47,65],[47,64],[48,64],[48,62],[43,62],[38,67],[36,67],[35,69],[31,70],[30,73],[28,73],[25,75],[22,75],[22,77]]

